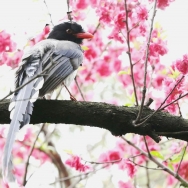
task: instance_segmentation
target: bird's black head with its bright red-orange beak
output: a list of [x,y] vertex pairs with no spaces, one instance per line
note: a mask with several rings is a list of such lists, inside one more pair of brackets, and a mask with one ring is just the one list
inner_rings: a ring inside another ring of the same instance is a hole
[[53,28],[48,39],[68,40],[81,44],[83,39],[90,39],[92,37],[93,35],[86,33],[81,25],[75,22],[64,22]]

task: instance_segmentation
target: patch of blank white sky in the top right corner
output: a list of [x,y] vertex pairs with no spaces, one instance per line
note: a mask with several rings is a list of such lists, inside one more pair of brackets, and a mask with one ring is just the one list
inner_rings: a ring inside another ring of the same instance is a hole
[[167,33],[169,53],[164,62],[181,58],[188,53],[188,1],[175,0],[165,11],[158,11],[156,20]]

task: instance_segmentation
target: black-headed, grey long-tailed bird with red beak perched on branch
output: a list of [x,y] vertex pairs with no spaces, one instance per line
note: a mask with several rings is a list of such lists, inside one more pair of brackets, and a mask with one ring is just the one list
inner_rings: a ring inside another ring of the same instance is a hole
[[9,105],[11,123],[2,157],[2,175],[8,184],[16,182],[12,172],[16,133],[30,123],[33,103],[62,83],[68,86],[73,81],[83,61],[80,45],[83,39],[92,37],[78,23],[67,21],[54,26],[47,39],[24,52],[16,71],[15,88],[18,90],[15,90]]

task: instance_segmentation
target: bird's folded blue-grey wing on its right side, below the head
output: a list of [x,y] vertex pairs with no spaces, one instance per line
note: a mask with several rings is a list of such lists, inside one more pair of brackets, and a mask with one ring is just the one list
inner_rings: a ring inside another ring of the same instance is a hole
[[69,75],[78,69],[83,61],[83,52],[80,46],[70,41],[59,41],[56,51],[52,57],[43,65],[43,68],[50,67],[44,76],[44,85],[40,89],[40,96],[53,91]]

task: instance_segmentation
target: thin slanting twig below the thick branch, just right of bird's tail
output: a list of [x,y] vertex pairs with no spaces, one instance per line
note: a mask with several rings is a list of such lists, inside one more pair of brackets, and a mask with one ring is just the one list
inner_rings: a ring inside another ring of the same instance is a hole
[[27,160],[26,160],[25,174],[24,174],[24,178],[23,178],[23,185],[25,185],[25,184],[27,183],[26,177],[27,177],[27,171],[28,171],[28,167],[29,167],[29,159],[30,159],[30,157],[31,157],[31,155],[32,155],[32,153],[33,153],[33,150],[34,150],[35,144],[36,144],[36,142],[37,142],[37,139],[38,139],[38,137],[39,137],[39,135],[40,135],[42,129],[44,128],[44,126],[45,126],[45,123],[42,124],[41,128],[39,129],[38,134],[36,135],[36,138],[35,138],[35,140],[34,140],[34,142],[33,142],[33,145],[32,145],[31,148],[30,148],[30,151],[29,151],[29,154],[28,154],[28,158],[27,158]]

